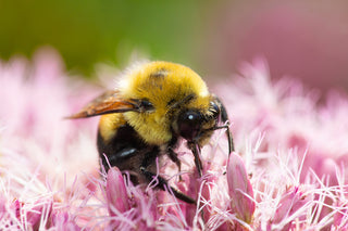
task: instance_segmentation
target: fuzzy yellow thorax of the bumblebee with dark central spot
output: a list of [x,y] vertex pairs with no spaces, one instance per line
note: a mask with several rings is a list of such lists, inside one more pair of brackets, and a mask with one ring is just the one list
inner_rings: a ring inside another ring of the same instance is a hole
[[[178,106],[208,111],[210,102],[208,88],[196,73],[167,62],[146,64],[140,70],[130,72],[121,82],[120,91],[124,99],[145,99],[153,105],[156,112],[127,112],[124,117],[146,142],[158,145],[172,139],[171,125]],[[184,102],[189,95],[195,99]]]

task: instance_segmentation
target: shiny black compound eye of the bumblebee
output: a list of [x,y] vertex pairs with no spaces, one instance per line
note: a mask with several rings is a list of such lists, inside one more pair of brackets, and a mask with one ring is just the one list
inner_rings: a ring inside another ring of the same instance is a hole
[[202,116],[195,111],[186,111],[177,118],[178,133],[186,140],[194,140],[200,128]]

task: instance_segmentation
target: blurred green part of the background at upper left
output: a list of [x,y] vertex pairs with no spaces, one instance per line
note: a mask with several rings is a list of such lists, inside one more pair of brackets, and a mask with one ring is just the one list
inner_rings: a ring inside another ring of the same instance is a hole
[[0,0],[0,56],[30,56],[49,44],[67,69],[84,75],[92,74],[97,62],[125,65],[134,51],[195,65],[207,5],[199,0]]

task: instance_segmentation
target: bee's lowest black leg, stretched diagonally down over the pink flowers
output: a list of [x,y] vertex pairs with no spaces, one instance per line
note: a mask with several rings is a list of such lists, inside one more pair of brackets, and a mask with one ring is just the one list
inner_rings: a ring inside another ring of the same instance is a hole
[[170,191],[173,192],[174,196],[183,202],[186,202],[188,204],[194,204],[196,205],[197,202],[196,200],[191,198],[190,196],[188,195],[185,195],[184,193],[177,191],[176,189],[172,188],[169,185],[169,183],[166,182],[166,180],[160,176],[157,176],[156,174],[152,174],[151,171],[148,171],[146,170],[145,167],[140,167],[140,170],[142,172],[142,175],[146,177],[146,179],[150,182],[153,180],[153,178],[157,178],[158,179],[158,184],[157,184],[157,188],[165,191],[165,189],[170,189]]

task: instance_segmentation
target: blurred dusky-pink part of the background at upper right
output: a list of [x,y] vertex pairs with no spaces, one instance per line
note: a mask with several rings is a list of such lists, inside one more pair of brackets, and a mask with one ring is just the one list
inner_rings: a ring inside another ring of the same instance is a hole
[[322,91],[347,91],[347,1],[225,1],[211,12],[206,68],[229,74],[263,55],[273,79],[286,75]]

